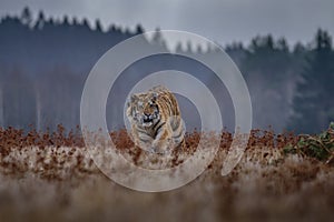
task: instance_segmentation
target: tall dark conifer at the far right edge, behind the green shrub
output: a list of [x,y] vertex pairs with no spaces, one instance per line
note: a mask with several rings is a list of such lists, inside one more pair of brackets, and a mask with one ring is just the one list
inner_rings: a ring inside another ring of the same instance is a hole
[[332,39],[326,31],[318,30],[315,48],[306,58],[294,98],[289,128],[297,132],[316,133],[334,120],[334,56]]

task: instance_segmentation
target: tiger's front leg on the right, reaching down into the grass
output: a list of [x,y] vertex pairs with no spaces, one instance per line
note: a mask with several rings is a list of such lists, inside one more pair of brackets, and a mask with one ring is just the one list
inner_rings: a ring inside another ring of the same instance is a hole
[[171,141],[171,129],[169,125],[161,128],[151,143],[151,149],[156,153],[164,154],[168,151]]

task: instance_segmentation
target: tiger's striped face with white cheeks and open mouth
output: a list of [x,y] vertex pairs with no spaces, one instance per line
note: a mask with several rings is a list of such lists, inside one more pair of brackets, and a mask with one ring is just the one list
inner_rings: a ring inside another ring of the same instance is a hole
[[160,120],[156,93],[132,94],[127,110],[128,117],[138,125],[149,128]]

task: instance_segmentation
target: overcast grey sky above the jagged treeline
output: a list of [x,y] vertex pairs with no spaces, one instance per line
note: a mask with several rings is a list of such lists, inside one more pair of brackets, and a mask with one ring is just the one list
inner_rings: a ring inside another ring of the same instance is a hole
[[104,27],[185,30],[222,44],[266,33],[308,42],[317,28],[334,33],[334,0],[0,0],[0,16],[24,6],[47,17],[98,18]]

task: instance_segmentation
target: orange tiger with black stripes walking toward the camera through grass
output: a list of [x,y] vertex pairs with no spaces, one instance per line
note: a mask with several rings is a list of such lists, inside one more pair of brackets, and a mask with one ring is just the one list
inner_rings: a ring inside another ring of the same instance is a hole
[[131,94],[126,112],[135,145],[158,154],[185,145],[180,109],[166,87]]

